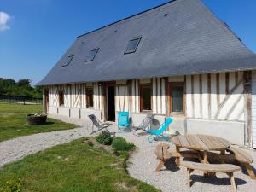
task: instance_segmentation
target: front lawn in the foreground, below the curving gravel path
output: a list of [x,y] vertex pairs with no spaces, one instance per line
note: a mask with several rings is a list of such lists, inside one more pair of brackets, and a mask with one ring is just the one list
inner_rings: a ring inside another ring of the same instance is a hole
[[22,191],[114,192],[158,191],[125,171],[129,153],[120,156],[83,139],[55,146],[0,170],[0,191],[20,179]]

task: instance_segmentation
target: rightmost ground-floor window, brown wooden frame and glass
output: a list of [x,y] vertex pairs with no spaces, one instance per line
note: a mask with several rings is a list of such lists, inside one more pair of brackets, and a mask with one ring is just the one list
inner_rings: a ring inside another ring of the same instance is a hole
[[171,83],[171,113],[184,113],[184,84]]

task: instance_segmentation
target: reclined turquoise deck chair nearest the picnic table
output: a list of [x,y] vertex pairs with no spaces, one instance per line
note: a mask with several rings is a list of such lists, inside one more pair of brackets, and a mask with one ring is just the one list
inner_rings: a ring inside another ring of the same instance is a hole
[[151,134],[151,136],[148,137],[148,142],[152,143],[154,137],[163,137],[167,141],[169,137],[164,136],[163,133],[166,131],[167,127],[172,123],[172,121],[172,118],[167,118],[166,121],[160,125],[158,130],[147,130],[147,132]]

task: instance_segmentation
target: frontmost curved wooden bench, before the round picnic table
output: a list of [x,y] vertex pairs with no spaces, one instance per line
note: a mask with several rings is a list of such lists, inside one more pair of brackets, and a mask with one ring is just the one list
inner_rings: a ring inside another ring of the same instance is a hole
[[232,187],[232,191],[236,191],[236,183],[235,177],[233,172],[241,170],[239,166],[230,165],[230,164],[202,164],[202,163],[195,163],[192,161],[182,161],[181,166],[187,168],[188,174],[188,185],[191,186],[190,175],[194,170],[199,170],[202,172],[224,172],[230,177],[230,183]]

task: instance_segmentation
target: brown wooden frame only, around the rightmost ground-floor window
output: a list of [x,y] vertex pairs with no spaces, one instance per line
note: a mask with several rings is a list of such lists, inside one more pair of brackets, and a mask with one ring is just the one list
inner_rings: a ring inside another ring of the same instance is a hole
[[[183,112],[173,112],[173,108],[172,108],[172,88],[173,87],[183,87]],[[170,114],[181,114],[181,115],[185,115],[186,113],[186,100],[185,100],[185,83],[184,82],[169,82],[169,85],[168,85],[168,88],[169,88],[169,108],[170,108]]]

